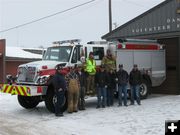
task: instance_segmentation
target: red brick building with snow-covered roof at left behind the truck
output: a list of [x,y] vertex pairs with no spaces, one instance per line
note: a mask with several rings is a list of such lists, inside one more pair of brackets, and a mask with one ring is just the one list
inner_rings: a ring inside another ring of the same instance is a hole
[[42,49],[9,47],[0,40],[0,83],[6,82],[6,75],[16,76],[18,66],[42,59]]

